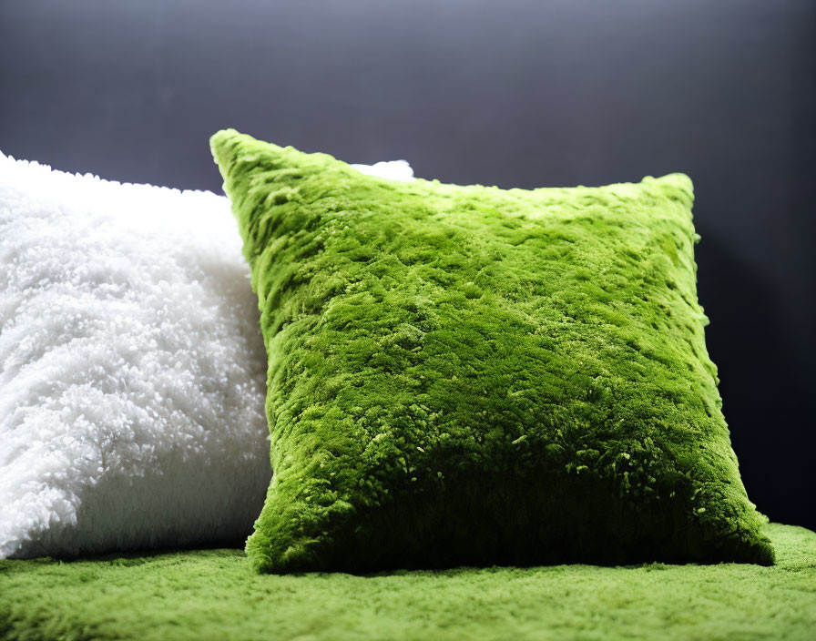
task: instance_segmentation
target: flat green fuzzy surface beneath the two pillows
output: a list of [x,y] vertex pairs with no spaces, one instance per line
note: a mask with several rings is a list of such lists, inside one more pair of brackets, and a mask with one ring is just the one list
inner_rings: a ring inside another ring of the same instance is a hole
[[778,564],[554,565],[257,575],[242,552],[0,561],[0,637],[810,639],[816,534],[771,524]]

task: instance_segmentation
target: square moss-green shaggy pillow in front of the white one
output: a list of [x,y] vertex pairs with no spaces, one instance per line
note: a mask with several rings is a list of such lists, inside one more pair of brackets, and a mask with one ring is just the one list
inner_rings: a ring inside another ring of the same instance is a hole
[[688,177],[505,190],[211,146],[269,354],[259,571],[773,563],[706,351]]

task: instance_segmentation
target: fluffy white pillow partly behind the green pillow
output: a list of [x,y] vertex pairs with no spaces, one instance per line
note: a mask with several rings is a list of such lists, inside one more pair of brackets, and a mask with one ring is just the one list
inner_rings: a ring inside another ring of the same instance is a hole
[[258,317],[227,198],[0,154],[0,557],[250,534],[270,482]]

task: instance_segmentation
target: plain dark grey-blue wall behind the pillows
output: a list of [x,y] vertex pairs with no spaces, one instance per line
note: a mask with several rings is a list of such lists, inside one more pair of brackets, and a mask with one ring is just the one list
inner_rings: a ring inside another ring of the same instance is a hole
[[694,180],[752,500],[816,528],[816,3],[0,0],[0,150],[220,189],[223,127],[500,187]]

